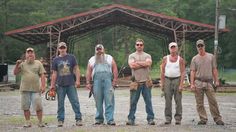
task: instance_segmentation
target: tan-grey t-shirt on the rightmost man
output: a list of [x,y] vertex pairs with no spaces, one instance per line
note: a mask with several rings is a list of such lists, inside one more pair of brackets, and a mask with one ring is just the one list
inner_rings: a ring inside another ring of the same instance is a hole
[[195,70],[196,78],[213,79],[212,70],[216,68],[216,61],[213,54],[206,53],[204,56],[197,54],[191,61],[191,70]]

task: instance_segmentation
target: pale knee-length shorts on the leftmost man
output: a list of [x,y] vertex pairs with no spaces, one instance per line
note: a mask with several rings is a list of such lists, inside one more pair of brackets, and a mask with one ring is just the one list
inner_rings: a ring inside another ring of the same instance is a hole
[[31,92],[31,91],[22,91],[21,92],[21,109],[29,110],[31,104],[35,111],[43,110],[41,93]]

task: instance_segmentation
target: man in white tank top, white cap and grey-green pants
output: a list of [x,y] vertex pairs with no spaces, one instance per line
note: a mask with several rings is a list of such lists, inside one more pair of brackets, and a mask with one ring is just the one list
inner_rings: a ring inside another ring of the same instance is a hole
[[175,99],[175,124],[180,125],[182,119],[182,90],[185,73],[185,64],[178,55],[178,45],[169,44],[170,55],[163,58],[161,64],[161,89],[165,95],[165,124],[171,124],[172,97]]

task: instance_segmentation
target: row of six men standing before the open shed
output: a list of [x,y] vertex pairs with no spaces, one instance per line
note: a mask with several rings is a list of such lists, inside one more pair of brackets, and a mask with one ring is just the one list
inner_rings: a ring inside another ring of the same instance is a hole
[[[214,56],[205,51],[203,40],[196,42],[198,54],[191,61],[191,90],[195,93],[197,112],[200,117],[199,125],[207,123],[207,114],[204,108],[204,93],[207,95],[210,111],[217,125],[224,125],[215,98],[213,85],[219,85],[218,72]],[[59,55],[53,59],[51,86],[52,91],[57,93],[57,120],[58,127],[62,127],[65,119],[65,96],[67,95],[75,113],[75,124],[82,126],[82,114],[77,89],[80,87],[80,70],[74,55],[67,53],[65,42],[58,44]],[[129,55],[128,64],[132,69],[133,81],[137,88],[130,90],[130,108],[126,125],[135,125],[135,113],[137,103],[142,93],[147,113],[147,123],[155,125],[152,107],[152,86],[147,85],[150,80],[152,65],[151,55],[144,52],[144,41],[137,39],[136,51]],[[161,89],[165,96],[165,119],[164,124],[172,121],[172,97],[176,104],[174,115],[175,124],[180,125],[182,120],[182,90],[185,77],[185,61],[178,55],[178,45],[175,42],[169,44],[170,54],[163,58],[161,64]],[[30,106],[33,105],[38,117],[38,126],[44,127],[42,122],[41,94],[45,92],[45,70],[40,61],[35,60],[33,48],[27,48],[25,60],[18,60],[14,68],[14,74],[21,73],[21,108],[24,111],[26,123],[24,127],[31,127]],[[95,55],[87,65],[86,88],[94,96],[96,115],[95,125],[116,125],[114,121],[114,88],[117,85],[118,70],[114,58],[105,53],[102,44],[95,46]],[[39,81],[40,80],[40,81]],[[213,84],[214,82],[214,84]],[[41,83],[41,84],[40,84]],[[103,108],[104,104],[104,108]],[[105,116],[105,118],[104,118]]]

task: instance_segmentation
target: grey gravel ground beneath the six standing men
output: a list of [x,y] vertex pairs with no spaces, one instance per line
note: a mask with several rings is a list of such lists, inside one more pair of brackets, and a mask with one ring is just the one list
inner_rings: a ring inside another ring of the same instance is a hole
[[[145,104],[142,96],[140,97],[137,111],[136,111],[136,126],[126,126],[127,115],[129,110],[129,89],[118,88],[115,90],[115,121],[116,126],[94,126],[95,105],[94,99],[88,98],[88,90],[80,88],[78,96],[80,101],[81,112],[83,114],[83,126],[75,126],[74,112],[71,105],[66,98],[66,119],[65,125],[58,128],[56,112],[57,102],[47,101],[43,97],[44,107],[44,122],[47,124],[45,128],[37,127],[37,119],[35,112],[32,112],[33,126],[31,128],[23,128],[24,118],[20,110],[20,93],[18,90],[0,92],[0,131],[45,131],[45,132],[151,132],[151,131],[170,131],[170,132],[189,132],[189,131],[207,131],[207,132],[222,132],[222,131],[236,131],[236,93],[217,93],[217,101],[220,107],[220,112],[225,121],[225,126],[217,126],[209,112],[208,102],[205,98],[205,107],[208,114],[208,124],[205,126],[198,126],[199,121],[196,112],[196,103],[193,93],[183,92],[183,119],[180,126],[174,125],[175,121],[172,120],[171,125],[164,125],[164,98],[160,96],[160,90],[153,88],[152,101],[155,113],[155,126],[147,125]],[[173,102],[173,113],[175,105]]]

